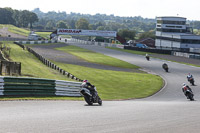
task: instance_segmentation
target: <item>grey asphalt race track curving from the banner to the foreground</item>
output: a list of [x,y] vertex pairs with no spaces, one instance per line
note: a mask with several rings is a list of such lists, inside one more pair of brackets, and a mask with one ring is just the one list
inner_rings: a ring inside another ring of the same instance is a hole
[[[0,102],[2,133],[198,133],[200,132],[200,68],[167,62],[146,61],[143,56],[69,42],[112,56],[158,74],[166,86],[157,94],[138,100],[103,101],[103,106],[87,106],[84,101],[4,101]],[[195,78],[195,101],[181,91],[186,75]]]

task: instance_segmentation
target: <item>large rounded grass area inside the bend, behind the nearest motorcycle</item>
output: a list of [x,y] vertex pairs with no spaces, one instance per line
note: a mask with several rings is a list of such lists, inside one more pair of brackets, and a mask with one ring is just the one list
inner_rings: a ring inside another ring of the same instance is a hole
[[87,79],[97,87],[104,100],[144,98],[163,86],[159,76],[111,70],[100,70],[54,62],[80,79]]

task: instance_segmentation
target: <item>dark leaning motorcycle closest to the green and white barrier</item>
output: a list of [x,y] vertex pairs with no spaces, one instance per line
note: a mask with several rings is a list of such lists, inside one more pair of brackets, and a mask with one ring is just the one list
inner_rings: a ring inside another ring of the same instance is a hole
[[81,88],[80,94],[84,97],[84,99],[88,103],[88,105],[93,105],[93,103],[98,103],[99,105],[102,105],[102,100],[96,91],[96,87],[94,87],[94,89],[95,89],[94,96],[92,96],[90,90],[87,88]]

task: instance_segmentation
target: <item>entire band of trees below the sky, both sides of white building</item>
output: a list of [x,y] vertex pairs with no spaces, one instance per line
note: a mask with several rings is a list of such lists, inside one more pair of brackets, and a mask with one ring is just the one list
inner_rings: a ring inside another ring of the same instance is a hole
[[[80,14],[49,11],[44,13],[39,8],[33,11],[0,8],[0,24],[12,24],[17,27],[53,31],[57,28],[89,29],[117,31],[126,39],[155,38],[156,19],[119,17],[106,14]],[[190,21],[196,34],[199,34],[200,21]]]

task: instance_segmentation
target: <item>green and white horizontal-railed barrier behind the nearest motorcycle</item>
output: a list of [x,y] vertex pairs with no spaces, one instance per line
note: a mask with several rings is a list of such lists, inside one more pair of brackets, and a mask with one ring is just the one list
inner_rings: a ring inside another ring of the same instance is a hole
[[0,96],[80,97],[81,82],[25,77],[0,77]]

